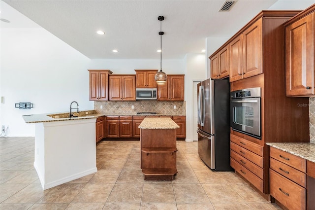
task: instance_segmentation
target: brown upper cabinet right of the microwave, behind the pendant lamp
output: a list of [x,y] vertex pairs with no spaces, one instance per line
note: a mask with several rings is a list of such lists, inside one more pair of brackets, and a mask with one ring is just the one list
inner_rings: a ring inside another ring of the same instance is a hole
[[184,74],[169,74],[164,85],[158,85],[158,101],[184,101]]

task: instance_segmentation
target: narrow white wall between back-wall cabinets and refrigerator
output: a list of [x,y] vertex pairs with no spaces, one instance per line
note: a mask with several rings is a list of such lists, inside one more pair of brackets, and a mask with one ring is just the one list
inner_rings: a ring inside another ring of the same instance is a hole
[[193,120],[193,81],[206,79],[206,56],[202,54],[187,54],[185,57],[185,101],[186,101],[186,140],[192,141]]

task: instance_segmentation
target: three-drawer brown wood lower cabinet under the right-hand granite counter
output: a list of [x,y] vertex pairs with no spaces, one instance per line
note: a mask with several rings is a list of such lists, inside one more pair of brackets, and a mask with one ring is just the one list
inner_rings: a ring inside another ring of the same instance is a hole
[[305,159],[270,147],[270,195],[284,207],[306,209],[305,173]]

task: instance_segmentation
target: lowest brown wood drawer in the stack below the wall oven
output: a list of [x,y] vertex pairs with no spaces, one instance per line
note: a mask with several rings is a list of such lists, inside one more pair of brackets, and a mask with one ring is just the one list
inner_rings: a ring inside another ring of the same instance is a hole
[[251,171],[246,169],[245,167],[241,166],[237,163],[233,158],[231,158],[231,167],[235,169],[240,175],[246,178],[249,182],[252,183],[258,190],[263,192],[263,180],[260,179],[258,176],[254,175]]

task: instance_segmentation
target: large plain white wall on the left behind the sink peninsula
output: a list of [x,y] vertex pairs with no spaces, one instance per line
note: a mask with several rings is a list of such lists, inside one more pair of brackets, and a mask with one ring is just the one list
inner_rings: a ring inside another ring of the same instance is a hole
[[[41,28],[2,28],[0,125],[8,136],[34,136],[34,125],[22,115],[68,111],[77,101],[79,109],[93,109],[89,101],[90,59]],[[34,108],[15,108],[31,102]]]

